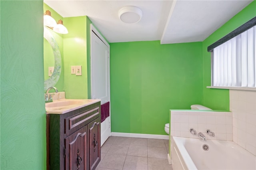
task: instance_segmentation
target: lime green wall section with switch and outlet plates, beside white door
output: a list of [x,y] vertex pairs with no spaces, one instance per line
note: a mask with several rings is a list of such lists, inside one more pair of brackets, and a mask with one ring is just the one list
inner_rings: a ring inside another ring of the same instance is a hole
[[[87,99],[86,16],[64,18],[64,86],[66,98]],[[82,75],[71,74],[71,66],[81,65]]]

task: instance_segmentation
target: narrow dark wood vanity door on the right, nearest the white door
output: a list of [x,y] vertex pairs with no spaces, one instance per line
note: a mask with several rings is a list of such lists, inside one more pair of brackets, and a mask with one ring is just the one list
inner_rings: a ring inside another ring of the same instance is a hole
[[100,119],[88,124],[90,136],[90,169],[94,170],[100,162]]

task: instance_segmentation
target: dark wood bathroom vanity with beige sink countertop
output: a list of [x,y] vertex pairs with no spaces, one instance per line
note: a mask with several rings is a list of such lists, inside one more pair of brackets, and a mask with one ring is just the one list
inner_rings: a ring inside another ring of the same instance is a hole
[[46,106],[48,170],[96,168],[100,162],[100,113],[100,100],[93,99],[65,99]]

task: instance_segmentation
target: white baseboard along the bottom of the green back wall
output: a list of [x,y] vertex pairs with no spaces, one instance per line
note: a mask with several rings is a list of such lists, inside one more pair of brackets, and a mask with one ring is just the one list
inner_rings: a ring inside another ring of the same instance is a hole
[[169,139],[169,135],[161,135],[161,134],[111,132],[111,136],[131,137],[131,138],[167,139],[167,140]]

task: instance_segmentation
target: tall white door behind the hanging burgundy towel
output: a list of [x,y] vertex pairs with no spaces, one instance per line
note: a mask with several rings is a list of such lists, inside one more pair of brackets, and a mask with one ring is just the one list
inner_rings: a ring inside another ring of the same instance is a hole
[[[101,99],[101,104],[110,101],[109,45],[104,43],[92,26],[91,31],[91,96]],[[96,34],[94,33],[96,32]],[[110,136],[110,117],[101,123],[101,145]]]

